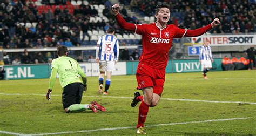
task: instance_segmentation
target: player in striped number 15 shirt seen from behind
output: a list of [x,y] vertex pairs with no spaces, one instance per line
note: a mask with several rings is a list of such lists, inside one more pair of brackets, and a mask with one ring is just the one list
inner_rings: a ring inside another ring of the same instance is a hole
[[114,65],[119,57],[119,42],[114,36],[114,29],[109,26],[106,35],[99,38],[96,46],[96,62],[99,63],[99,90],[98,93],[103,92],[104,74],[106,73],[105,91],[103,94],[109,94],[109,86],[111,83],[111,75],[114,71]]

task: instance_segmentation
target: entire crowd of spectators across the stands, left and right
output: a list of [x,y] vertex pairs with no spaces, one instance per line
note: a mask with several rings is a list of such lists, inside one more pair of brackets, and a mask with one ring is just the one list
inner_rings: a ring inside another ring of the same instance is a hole
[[[104,30],[110,25],[116,29],[116,33],[129,34],[117,25],[112,15],[112,4],[107,0],[87,0],[88,5],[71,5],[70,0],[42,0],[41,4],[50,8],[42,10],[36,5],[35,0],[3,0],[0,3],[0,47],[4,49],[18,48],[41,48],[56,47],[65,45],[68,47],[85,45],[85,37],[90,41],[88,30]],[[181,0],[125,0],[120,3],[130,4],[133,12],[140,12],[142,16],[154,16],[154,8],[159,2],[170,4],[171,18],[169,23],[179,28],[196,29],[212,22],[218,17],[221,25],[212,33],[247,33],[256,31],[255,1],[237,0],[205,0],[205,1],[181,1]],[[96,9],[91,5],[103,4],[102,14],[109,20],[103,22],[91,22],[91,17],[99,16]],[[54,10],[52,10],[54,6]],[[141,23],[136,16],[128,15],[125,7],[120,13],[127,22]],[[21,23],[31,23],[30,27]],[[67,29],[65,29],[65,26]],[[83,38],[80,39],[80,31]],[[50,52],[51,53],[51,52]],[[23,53],[26,54],[25,52]],[[43,53],[46,58],[48,52]],[[41,53],[42,55],[42,53]],[[40,53],[33,53],[33,57],[40,56]],[[129,54],[129,60],[138,59],[138,54]],[[20,56],[11,56],[9,64],[25,63]],[[127,56],[126,56],[127,57]],[[54,58],[54,57],[52,57]],[[127,57],[128,59],[128,57]],[[127,60],[124,59],[124,60]],[[45,63],[48,59],[36,60],[31,58],[30,63]]]

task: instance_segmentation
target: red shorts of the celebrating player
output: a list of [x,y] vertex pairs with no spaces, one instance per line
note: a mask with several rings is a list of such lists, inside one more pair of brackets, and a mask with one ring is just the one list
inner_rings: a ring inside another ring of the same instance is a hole
[[138,83],[137,89],[142,90],[145,87],[153,87],[153,93],[161,96],[164,89],[165,70],[154,69],[139,63],[136,78]]

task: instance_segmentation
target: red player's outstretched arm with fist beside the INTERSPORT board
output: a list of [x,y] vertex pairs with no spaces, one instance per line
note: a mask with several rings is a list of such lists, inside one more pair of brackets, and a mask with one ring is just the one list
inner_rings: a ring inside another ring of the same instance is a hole
[[220,21],[218,18],[215,18],[211,24],[208,24],[202,28],[195,29],[195,30],[187,30],[184,37],[197,37],[203,35],[207,31],[211,30],[215,26],[218,26]]

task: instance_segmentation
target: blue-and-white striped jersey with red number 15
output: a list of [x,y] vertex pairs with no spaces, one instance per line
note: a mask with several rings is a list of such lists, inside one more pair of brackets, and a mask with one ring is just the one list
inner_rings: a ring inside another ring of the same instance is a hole
[[[113,35],[101,36],[97,42],[99,45],[99,60],[117,61],[119,57],[119,42]],[[97,57],[97,56],[96,56]]]

